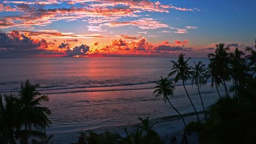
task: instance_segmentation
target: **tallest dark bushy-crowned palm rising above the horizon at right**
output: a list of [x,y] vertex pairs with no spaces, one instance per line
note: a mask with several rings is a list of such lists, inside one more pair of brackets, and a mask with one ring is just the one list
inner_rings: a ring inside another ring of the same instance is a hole
[[229,61],[230,56],[227,51],[229,51],[229,47],[224,47],[225,44],[216,45],[217,49],[215,53],[209,53],[208,57],[210,58],[210,67],[212,68],[212,72],[214,72],[216,76],[220,77],[223,85],[225,87],[225,92],[227,97],[230,98],[226,81],[230,81],[230,68]]

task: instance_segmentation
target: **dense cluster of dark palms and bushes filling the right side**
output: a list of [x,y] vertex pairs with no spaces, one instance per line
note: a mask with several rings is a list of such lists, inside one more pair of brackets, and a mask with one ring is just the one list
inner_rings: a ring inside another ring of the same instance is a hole
[[[256,139],[254,139],[256,130],[256,51],[247,47],[246,51],[250,54],[244,56],[245,53],[237,48],[234,53],[229,53],[229,47],[225,47],[225,44],[216,46],[215,53],[208,54],[210,59],[208,68],[205,68],[201,61],[195,63],[195,67],[189,68],[187,64],[189,59],[185,61],[182,53],[177,62],[172,61],[173,67],[169,76],[177,74],[174,81],[177,83],[179,79],[182,80],[187,95],[184,82],[191,79],[191,83],[196,84],[205,119],[207,119],[205,123],[199,121],[188,123],[185,126],[186,130],[199,132],[201,143],[256,143]],[[219,100],[206,113],[199,88],[206,84],[207,78],[210,77],[212,79],[211,86],[215,85]],[[162,79],[155,87],[156,92],[159,91]],[[165,81],[169,80],[166,78]],[[228,87],[226,82],[232,82],[233,85]],[[221,98],[218,90],[220,85],[224,86],[226,97]],[[234,93],[233,97],[230,96],[230,92]],[[189,95],[188,98],[195,110]],[[197,113],[196,110],[195,113]]]

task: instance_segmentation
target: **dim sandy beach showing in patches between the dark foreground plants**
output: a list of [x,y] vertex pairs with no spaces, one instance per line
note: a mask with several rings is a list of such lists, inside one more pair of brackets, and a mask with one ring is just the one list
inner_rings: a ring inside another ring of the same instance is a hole
[[[199,115],[200,118],[203,119],[203,115]],[[186,123],[190,121],[196,121],[195,115],[188,115],[185,117]],[[161,139],[165,143],[171,143],[171,138],[175,136],[177,141],[173,143],[181,143],[182,134],[183,134],[183,123],[182,120],[178,117],[164,117],[159,119],[152,119],[150,120],[150,125],[153,126],[152,129],[155,130]],[[117,132],[121,135],[125,135],[123,128],[126,127],[129,132],[134,132],[136,130],[135,125],[130,126],[109,126],[109,127],[100,127],[98,129],[93,129],[94,132],[101,133],[105,132],[106,130],[110,132]],[[55,133],[53,134],[54,137],[51,139],[51,142],[54,144],[68,144],[68,143],[75,143],[78,141],[79,132],[86,132],[86,131],[78,131],[78,132],[67,132],[67,133]],[[198,138],[196,133],[191,133],[187,135],[189,144],[197,144]]]

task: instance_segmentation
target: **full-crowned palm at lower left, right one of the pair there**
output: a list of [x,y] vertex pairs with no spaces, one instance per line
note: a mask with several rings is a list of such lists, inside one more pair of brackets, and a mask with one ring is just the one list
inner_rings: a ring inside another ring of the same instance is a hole
[[[36,130],[43,130],[45,132],[46,127],[51,124],[47,115],[51,114],[51,111],[47,107],[39,107],[42,101],[49,101],[47,95],[41,95],[36,89],[38,84],[30,84],[27,80],[24,84],[21,84],[21,90],[19,92],[19,102],[21,107],[21,120],[24,123],[25,131],[31,130],[32,127]],[[23,135],[23,142],[27,142],[28,135]]]

